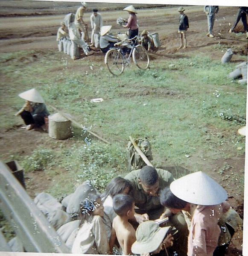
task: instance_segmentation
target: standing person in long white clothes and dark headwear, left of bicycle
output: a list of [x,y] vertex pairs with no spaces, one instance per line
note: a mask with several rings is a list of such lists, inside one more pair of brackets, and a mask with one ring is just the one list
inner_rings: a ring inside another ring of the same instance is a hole
[[102,28],[102,15],[98,13],[97,9],[92,10],[92,15],[90,15],[90,24],[91,24],[91,45],[99,48],[100,32]]

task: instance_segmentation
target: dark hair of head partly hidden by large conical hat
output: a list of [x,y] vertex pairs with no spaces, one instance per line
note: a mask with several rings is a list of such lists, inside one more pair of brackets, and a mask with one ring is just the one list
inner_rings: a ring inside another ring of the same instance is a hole
[[184,209],[184,207],[187,205],[187,202],[176,197],[169,187],[163,188],[161,191],[160,203],[161,205],[168,208],[174,208],[178,210]]

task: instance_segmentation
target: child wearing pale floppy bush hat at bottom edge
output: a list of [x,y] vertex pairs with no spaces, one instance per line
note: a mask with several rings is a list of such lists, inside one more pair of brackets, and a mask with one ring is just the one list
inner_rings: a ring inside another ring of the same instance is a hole
[[131,247],[135,255],[162,255],[161,250],[173,245],[172,234],[168,234],[170,227],[159,227],[155,221],[142,222],[136,230],[136,241]]

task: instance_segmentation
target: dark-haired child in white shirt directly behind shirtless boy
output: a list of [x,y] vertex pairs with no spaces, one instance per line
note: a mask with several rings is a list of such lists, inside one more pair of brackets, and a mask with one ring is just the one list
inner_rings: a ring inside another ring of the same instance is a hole
[[106,225],[108,239],[111,235],[114,217],[116,217],[116,213],[113,209],[113,197],[117,194],[128,194],[131,189],[132,185],[127,179],[114,177],[114,179],[108,183],[105,191],[101,194],[105,213],[103,216],[103,222]]

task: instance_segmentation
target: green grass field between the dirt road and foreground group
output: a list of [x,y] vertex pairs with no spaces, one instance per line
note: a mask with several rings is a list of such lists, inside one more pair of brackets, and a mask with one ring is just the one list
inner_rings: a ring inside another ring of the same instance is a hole
[[[227,78],[235,63],[222,65],[200,54],[152,61],[147,71],[129,67],[120,77],[113,77],[103,62],[79,60],[77,64],[82,70],[94,65],[96,71],[85,75],[80,68],[71,68],[72,62],[61,53],[32,51],[0,57],[4,77],[0,92],[5,95],[1,104],[9,109],[0,114],[1,127],[16,124],[14,114],[23,103],[18,93],[35,87],[48,106],[73,115],[111,142],[97,142],[88,135],[91,144],[86,145],[84,129],[74,127],[72,147],[61,148],[58,141],[57,148],[34,151],[31,156],[18,157],[11,152],[9,158],[18,158],[32,171],[39,169],[31,168],[34,163],[39,166],[44,160],[40,169],[56,180],[56,186],[48,191],[51,194],[61,193],[61,187],[70,193],[85,179],[102,191],[112,177],[124,176],[129,135],[148,137],[154,165],[182,166],[190,171],[205,168],[191,157],[210,161],[244,154],[245,139],[236,130],[245,125],[246,88]],[[96,97],[104,101],[91,103]],[[50,150],[51,159],[47,158]],[[177,177],[183,174],[174,173]]]

